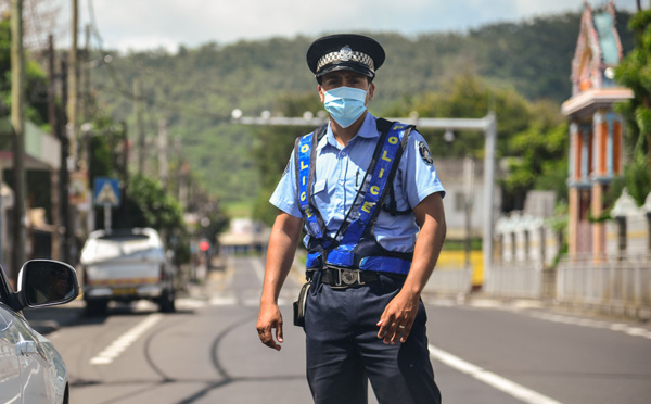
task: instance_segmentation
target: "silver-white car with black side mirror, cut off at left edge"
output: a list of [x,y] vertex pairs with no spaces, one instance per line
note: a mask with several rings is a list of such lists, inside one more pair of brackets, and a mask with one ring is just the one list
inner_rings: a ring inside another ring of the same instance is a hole
[[17,292],[0,267],[0,403],[68,404],[68,374],[52,343],[35,331],[22,310],[73,301],[75,269],[50,260],[28,261]]

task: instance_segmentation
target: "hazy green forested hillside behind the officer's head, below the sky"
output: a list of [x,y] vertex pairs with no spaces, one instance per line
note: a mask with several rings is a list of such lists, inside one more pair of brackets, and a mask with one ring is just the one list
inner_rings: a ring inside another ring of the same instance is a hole
[[[628,14],[617,15],[625,51],[633,47],[628,18]],[[571,94],[570,66],[578,26],[579,15],[569,13],[464,34],[416,38],[370,34],[387,54],[375,80],[371,112],[382,115],[413,96],[441,91],[460,73],[514,89],[528,100],[547,99],[560,105]],[[153,136],[158,119],[166,117],[170,138],[180,140],[182,155],[206,188],[225,202],[250,202],[260,189],[252,150],[264,129],[230,125],[231,111],[295,115],[308,104],[312,112],[319,111],[316,81],[305,63],[312,39],[206,43],[174,54],[108,52],[112,62],[92,71],[97,111],[133,128],[131,86],[135,78],[141,79],[148,135]],[[309,128],[292,130],[299,135]],[[152,162],[154,157],[152,153]],[[173,163],[177,157],[171,156]]]

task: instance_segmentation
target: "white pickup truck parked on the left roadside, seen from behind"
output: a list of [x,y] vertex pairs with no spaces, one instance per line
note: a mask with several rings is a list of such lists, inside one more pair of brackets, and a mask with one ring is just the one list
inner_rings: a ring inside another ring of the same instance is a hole
[[108,302],[140,299],[175,311],[174,267],[152,228],[97,230],[81,250],[84,300],[88,315],[106,312]]

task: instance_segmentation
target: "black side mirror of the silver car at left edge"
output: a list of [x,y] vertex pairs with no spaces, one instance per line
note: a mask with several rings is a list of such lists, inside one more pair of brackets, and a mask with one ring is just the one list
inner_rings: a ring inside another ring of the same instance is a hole
[[79,295],[75,268],[52,260],[31,260],[18,273],[18,300],[27,307],[71,302]]

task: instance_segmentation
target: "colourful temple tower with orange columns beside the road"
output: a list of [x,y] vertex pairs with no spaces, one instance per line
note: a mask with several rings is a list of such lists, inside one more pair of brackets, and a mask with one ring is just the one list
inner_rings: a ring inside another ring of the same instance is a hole
[[613,1],[595,11],[586,3],[572,60],[572,98],[562,105],[570,119],[571,256],[605,251],[605,225],[596,218],[610,209],[604,195],[623,169],[624,122],[613,104],[633,98],[630,89],[613,80],[621,59]]

